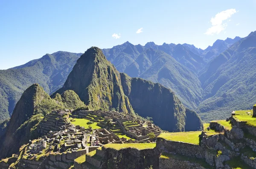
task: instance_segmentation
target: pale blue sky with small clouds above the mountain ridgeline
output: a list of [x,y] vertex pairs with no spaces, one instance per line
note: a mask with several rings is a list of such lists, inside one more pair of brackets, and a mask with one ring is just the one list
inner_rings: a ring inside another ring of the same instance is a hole
[[256,0],[0,0],[0,69],[126,41],[205,49],[256,31],[255,9]]

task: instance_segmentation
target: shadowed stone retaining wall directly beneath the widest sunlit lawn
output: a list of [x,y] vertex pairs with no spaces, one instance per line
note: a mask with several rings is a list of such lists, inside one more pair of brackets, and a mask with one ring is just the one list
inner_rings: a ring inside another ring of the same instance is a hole
[[171,140],[165,140],[163,138],[157,138],[157,149],[163,151],[166,149],[169,152],[175,152],[181,155],[186,155],[196,158],[204,158],[206,149],[199,145],[183,143]]

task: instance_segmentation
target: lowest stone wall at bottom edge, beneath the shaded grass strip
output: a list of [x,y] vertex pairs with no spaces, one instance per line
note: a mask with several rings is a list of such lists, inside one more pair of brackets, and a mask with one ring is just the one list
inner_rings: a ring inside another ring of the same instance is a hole
[[160,158],[159,169],[204,169],[200,164],[173,158]]

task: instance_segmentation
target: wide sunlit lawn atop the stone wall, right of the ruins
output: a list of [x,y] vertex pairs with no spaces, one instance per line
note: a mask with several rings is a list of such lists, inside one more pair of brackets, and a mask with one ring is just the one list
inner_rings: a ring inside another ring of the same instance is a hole
[[172,140],[172,141],[182,141],[185,143],[199,144],[199,135],[202,132],[173,132],[173,133],[161,133],[158,137]]

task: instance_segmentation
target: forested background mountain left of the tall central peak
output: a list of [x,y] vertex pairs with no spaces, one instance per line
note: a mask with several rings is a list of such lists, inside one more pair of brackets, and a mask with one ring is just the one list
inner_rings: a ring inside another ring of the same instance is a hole
[[0,123],[12,115],[20,96],[33,83],[39,83],[47,93],[59,89],[80,55],[55,52],[12,69],[0,70]]

